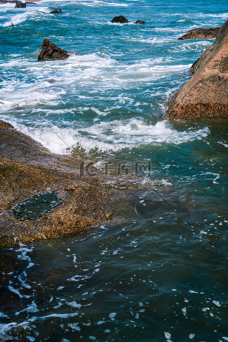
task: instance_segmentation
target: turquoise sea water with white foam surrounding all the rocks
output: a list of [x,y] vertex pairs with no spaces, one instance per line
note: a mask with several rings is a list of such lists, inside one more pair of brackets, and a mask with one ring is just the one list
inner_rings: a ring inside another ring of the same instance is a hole
[[[228,122],[162,120],[213,44],[177,38],[227,18],[218,0],[0,5],[0,119],[122,182],[124,161],[151,167],[134,216],[10,251],[1,341],[228,341]],[[44,38],[78,56],[38,62]]]

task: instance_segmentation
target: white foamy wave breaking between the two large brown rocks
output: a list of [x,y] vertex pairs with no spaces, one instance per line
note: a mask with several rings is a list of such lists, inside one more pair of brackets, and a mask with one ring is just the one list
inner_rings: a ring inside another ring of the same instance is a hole
[[[4,119],[4,118],[3,118]],[[117,152],[123,148],[148,145],[151,150],[153,144],[181,144],[186,141],[202,139],[210,130],[206,127],[198,130],[178,132],[171,128],[169,121],[161,121],[156,124],[146,124],[143,120],[132,118],[130,120],[101,121],[92,126],[83,128],[59,128],[47,122],[38,127],[26,127],[14,120],[7,120],[14,128],[31,136],[40,142],[51,152],[57,154],[70,153],[73,148],[82,148],[89,153]],[[156,146],[156,145],[155,145]],[[27,255],[26,255],[26,258]]]

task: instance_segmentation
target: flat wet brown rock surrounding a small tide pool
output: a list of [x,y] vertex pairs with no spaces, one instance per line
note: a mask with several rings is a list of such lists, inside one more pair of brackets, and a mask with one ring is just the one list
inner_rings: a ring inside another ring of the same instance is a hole
[[[0,248],[104,223],[115,226],[135,216],[135,203],[148,186],[113,186],[102,173],[80,176],[82,162],[74,154],[50,153],[29,136],[0,125]],[[49,192],[60,200],[57,207],[37,219],[17,220],[12,208]]]

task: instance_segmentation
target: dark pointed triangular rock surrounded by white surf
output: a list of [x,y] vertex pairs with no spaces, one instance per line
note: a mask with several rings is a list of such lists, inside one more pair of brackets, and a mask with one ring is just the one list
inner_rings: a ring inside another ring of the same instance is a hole
[[45,38],[38,56],[38,61],[66,60],[69,55],[70,53],[68,51],[59,48]]

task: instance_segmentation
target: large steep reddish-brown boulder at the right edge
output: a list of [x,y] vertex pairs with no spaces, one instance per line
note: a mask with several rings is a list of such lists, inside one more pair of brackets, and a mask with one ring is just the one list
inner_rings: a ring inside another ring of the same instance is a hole
[[167,103],[166,119],[228,116],[228,20],[192,65],[193,77]]

